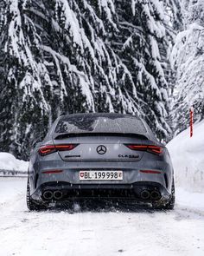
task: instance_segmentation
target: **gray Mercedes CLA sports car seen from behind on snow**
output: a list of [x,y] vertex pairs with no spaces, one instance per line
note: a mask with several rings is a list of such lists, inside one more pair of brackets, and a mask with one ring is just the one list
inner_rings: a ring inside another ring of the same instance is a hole
[[64,115],[33,149],[29,210],[94,199],[173,209],[174,171],[169,152],[141,118]]

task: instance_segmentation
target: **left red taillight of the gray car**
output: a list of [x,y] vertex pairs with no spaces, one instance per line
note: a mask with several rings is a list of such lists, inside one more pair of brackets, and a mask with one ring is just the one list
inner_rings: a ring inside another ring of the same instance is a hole
[[76,148],[78,144],[45,145],[38,149],[41,156],[54,153],[56,151],[67,151]]

